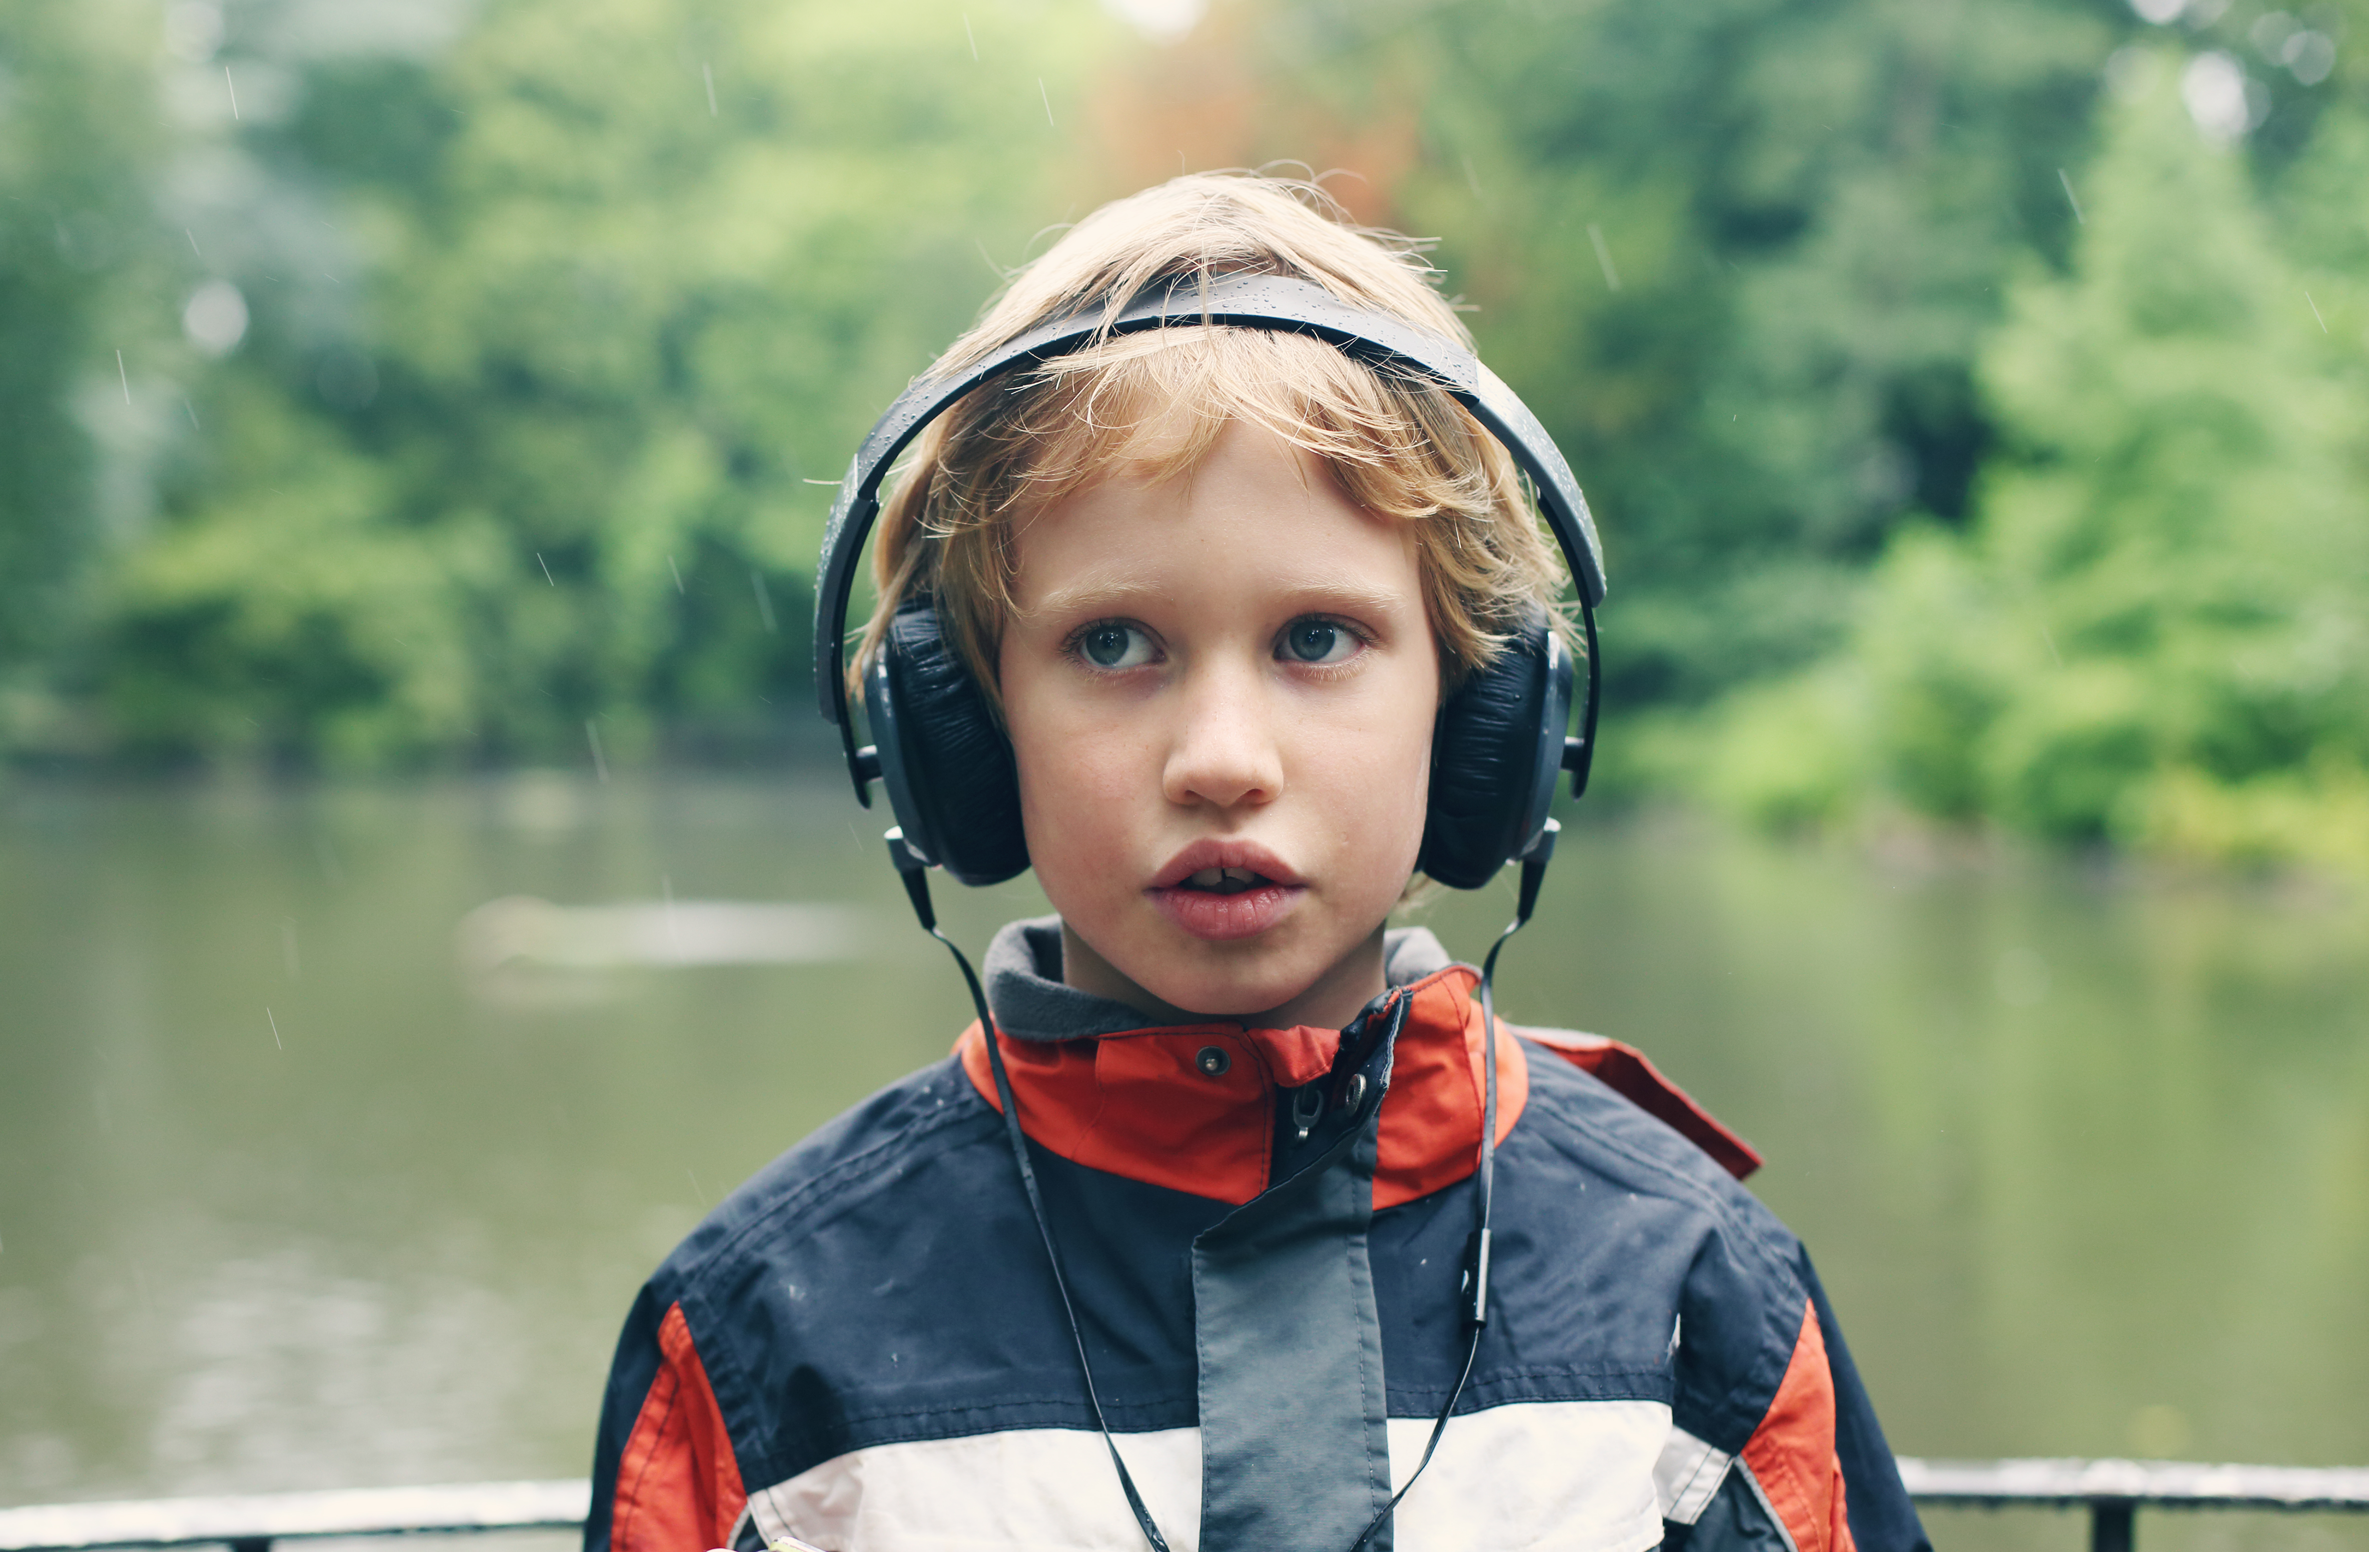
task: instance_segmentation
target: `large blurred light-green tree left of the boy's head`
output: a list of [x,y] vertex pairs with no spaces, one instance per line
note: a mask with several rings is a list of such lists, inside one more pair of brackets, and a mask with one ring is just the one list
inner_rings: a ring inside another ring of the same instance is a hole
[[[258,299],[114,590],[159,753],[583,758],[810,725],[808,583],[869,417],[1019,261],[1104,28],[1014,7],[497,0],[258,135],[362,318]],[[976,52],[974,52],[976,50]]]

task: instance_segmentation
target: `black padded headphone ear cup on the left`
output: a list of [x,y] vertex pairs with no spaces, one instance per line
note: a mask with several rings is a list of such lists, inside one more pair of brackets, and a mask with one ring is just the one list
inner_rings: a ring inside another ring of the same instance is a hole
[[888,623],[865,711],[907,846],[964,884],[1002,884],[1028,867],[1012,739],[926,599]]

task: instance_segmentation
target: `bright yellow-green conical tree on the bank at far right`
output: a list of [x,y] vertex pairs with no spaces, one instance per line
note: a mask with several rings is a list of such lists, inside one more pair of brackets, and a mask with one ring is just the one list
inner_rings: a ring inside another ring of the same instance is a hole
[[2025,275],[1983,358],[1978,524],[1874,573],[1864,775],[2056,841],[2369,862],[2369,398],[2177,64],[2120,71],[2073,270]]

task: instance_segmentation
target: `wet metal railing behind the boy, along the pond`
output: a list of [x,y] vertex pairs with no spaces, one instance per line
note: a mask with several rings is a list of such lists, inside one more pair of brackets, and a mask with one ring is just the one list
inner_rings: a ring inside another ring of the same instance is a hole
[[[2165,1460],[1902,1460],[1909,1498],[1938,1509],[2089,1509],[2092,1552],[2130,1552],[2139,1509],[2333,1509],[2369,1514],[2369,1469],[2194,1467]],[[258,1498],[0,1509],[0,1552],[230,1547],[275,1540],[467,1531],[580,1531],[592,1486],[479,1481]]]

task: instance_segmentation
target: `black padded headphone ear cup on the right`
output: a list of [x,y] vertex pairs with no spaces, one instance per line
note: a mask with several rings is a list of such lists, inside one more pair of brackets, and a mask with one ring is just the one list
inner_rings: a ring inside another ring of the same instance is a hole
[[1417,867],[1481,889],[1526,853],[1547,825],[1568,725],[1571,654],[1533,621],[1440,706]]

